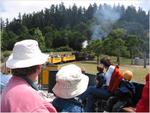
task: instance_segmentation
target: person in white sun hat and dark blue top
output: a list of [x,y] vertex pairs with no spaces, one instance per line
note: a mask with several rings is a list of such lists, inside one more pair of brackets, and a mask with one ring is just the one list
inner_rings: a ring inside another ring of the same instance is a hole
[[83,112],[80,95],[88,87],[89,78],[74,64],[62,67],[56,74],[52,104],[58,112]]

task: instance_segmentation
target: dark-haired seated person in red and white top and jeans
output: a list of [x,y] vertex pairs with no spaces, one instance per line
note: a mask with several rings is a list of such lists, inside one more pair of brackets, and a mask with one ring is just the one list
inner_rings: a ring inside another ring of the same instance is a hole
[[100,88],[91,86],[84,94],[82,94],[82,101],[87,101],[85,105],[86,112],[94,112],[94,103],[96,102],[97,98],[99,100],[107,100],[119,87],[119,84],[122,80],[122,73],[120,72],[119,67],[112,65],[109,58],[102,58],[100,62],[106,69],[106,85],[105,87]]

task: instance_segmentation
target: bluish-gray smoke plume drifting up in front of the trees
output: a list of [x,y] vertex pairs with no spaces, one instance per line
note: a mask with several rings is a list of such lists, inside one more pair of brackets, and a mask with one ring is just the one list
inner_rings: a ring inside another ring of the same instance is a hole
[[121,13],[114,8],[103,5],[94,13],[95,23],[92,24],[92,39],[106,37],[112,30],[113,24],[120,18]]

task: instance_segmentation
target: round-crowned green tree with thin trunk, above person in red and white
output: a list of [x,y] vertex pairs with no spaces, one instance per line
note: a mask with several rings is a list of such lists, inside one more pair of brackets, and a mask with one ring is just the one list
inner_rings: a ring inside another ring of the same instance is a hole
[[123,40],[124,36],[125,32],[123,32],[123,30],[115,29],[103,41],[105,53],[115,55],[117,57],[118,64],[120,64],[120,56],[127,53],[127,47]]

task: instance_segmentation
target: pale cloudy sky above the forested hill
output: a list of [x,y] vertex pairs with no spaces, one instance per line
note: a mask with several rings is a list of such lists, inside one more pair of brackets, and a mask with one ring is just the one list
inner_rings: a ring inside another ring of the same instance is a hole
[[66,7],[72,6],[74,3],[85,8],[93,3],[97,3],[97,5],[107,3],[112,6],[118,4],[125,7],[133,5],[136,9],[141,7],[146,12],[150,10],[150,0],[0,0],[0,17],[3,20],[8,18],[11,21],[14,17],[18,18],[19,12],[22,15],[37,12],[50,8],[52,4],[60,4],[61,2]]

